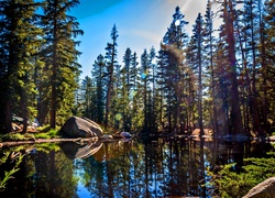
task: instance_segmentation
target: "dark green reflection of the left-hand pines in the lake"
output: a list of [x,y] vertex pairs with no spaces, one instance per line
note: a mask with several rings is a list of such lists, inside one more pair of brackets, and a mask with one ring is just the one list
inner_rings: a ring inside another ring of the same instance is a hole
[[[22,148],[25,150],[21,146],[20,150]],[[75,197],[77,180],[73,174],[72,161],[54,144],[40,144],[32,148],[20,164],[19,172],[10,178],[6,190],[0,193],[0,197]],[[6,170],[8,169],[1,169],[2,173]]]

